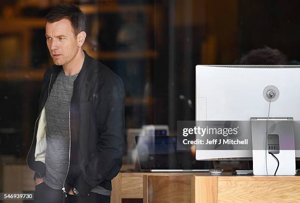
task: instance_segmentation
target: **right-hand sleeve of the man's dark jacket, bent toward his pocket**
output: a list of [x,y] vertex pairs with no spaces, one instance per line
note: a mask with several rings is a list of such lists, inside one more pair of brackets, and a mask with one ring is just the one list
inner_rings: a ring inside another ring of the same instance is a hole
[[125,91],[122,79],[114,78],[113,83],[103,84],[97,98],[97,153],[74,183],[74,187],[83,196],[99,185],[104,178],[107,179],[108,174],[111,176],[111,171],[116,171],[116,167],[118,169],[113,177],[118,174],[122,165],[120,159],[122,160],[125,151]]

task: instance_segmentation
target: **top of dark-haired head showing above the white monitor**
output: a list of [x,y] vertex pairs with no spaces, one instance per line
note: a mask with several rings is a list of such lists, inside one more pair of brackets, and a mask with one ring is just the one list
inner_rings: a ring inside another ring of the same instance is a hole
[[239,63],[240,65],[287,65],[286,55],[279,50],[264,47],[262,49],[251,50],[244,55]]

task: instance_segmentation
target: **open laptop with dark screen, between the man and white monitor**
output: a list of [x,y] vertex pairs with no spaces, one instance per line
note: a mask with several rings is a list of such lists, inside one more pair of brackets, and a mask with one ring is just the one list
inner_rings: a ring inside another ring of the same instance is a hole
[[176,150],[176,136],[136,136],[138,166],[143,172],[208,172],[211,161],[197,161],[192,152]]

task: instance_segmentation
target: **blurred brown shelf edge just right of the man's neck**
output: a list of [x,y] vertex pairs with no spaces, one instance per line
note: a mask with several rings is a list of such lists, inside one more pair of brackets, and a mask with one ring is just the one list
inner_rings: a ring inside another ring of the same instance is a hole
[[147,51],[88,51],[88,54],[98,60],[112,59],[143,59],[156,58],[157,52],[152,50]]

